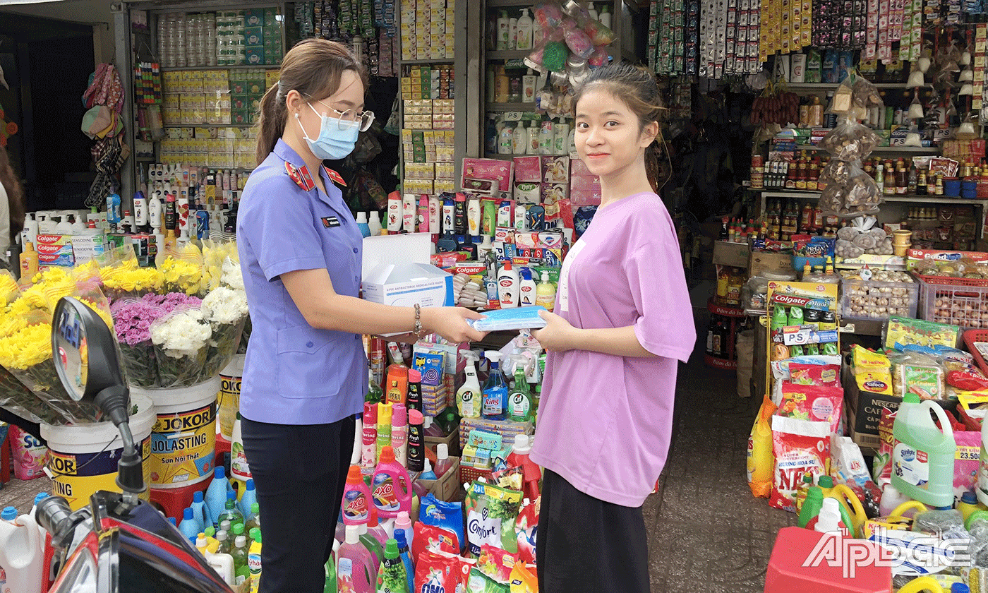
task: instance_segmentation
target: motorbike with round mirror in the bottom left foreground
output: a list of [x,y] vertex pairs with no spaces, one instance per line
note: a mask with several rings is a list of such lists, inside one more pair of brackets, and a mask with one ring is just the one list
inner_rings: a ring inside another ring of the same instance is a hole
[[35,518],[50,537],[44,554],[46,580],[53,581],[49,593],[232,593],[189,540],[138,498],[147,486],[111,329],[88,306],[65,296],[55,307],[51,349],[65,390],[113,421],[124,452],[116,479],[121,492],[98,491],[75,512],[60,496],[38,504]]

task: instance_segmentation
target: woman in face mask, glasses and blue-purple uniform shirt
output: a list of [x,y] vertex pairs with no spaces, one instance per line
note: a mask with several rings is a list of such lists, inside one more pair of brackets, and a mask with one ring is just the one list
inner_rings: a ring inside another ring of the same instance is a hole
[[362,236],[336,172],[371,125],[365,72],[346,45],[300,42],[261,100],[258,167],[237,248],[253,329],[240,392],[264,533],[261,593],[319,593],[368,389],[362,334],[481,339],[465,308],[358,297]]

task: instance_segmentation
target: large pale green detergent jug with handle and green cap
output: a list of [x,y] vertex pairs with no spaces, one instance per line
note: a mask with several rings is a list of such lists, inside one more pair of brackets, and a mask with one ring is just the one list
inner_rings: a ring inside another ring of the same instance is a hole
[[[930,418],[940,419],[938,428]],[[895,415],[892,435],[892,484],[903,494],[934,507],[953,505],[953,456],[956,442],[947,414],[937,402],[920,402],[906,393]]]

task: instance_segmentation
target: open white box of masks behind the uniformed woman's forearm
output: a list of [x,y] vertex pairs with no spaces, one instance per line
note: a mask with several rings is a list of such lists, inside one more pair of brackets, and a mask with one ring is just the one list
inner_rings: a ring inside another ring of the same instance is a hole
[[364,298],[394,306],[453,306],[453,276],[429,263],[432,237],[408,233],[364,239]]

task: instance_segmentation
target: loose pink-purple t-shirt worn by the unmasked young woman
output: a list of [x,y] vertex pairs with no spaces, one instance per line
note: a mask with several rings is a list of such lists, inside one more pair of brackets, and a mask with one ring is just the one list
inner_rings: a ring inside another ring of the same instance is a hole
[[532,460],[595,498],[640,506],[669,453],[677,360],[697,341],[676,229],[657,195],[597,211],[563,261],[555,312],[578,328],[633,326],[656,356],[550,352]]

